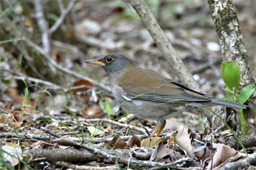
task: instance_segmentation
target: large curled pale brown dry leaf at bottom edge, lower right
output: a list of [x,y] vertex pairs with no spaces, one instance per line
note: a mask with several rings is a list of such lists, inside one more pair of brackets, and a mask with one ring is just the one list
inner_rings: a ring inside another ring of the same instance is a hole
[[[226,161],[228,158],[234,156],[237,153],[235,149],[223,143],[214,143],[213,147],[217,149],[217,152],[213,156],[212,168],[215,168],[216,166],[220,165],[222,162]],[[211,169],[211,162],[207,166],[207,169]]]

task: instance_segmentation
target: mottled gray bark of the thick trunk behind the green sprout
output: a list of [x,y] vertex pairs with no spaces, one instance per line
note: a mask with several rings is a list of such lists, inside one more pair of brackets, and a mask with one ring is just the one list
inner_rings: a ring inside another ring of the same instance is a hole
[[[256,80],[233,2],[231,0],[208,0],[208,3],[220,40],[223,60],[234,61],[238,65],[241,71],[240,90],[251,84],[255,87]],[[244,116],[248,124],[248,134],[255,134],[256,91],[245,104],[250,106],[250,109],[244,110]]]

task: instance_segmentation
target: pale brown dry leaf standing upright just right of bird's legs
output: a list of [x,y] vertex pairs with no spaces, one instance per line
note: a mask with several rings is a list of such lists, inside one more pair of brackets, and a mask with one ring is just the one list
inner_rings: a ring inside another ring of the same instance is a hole
[[188,128],[185,128],[184,126],[179,126],[176,138],[176,143],[180,146],[180,148],[184,149],[189,157],[195,158],[192,153],[193,148],[191,144],[190,133],[188,133]]

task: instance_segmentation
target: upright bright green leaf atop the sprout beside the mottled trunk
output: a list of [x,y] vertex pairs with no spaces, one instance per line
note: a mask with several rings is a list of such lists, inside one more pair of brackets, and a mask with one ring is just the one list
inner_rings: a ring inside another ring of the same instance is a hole
[[240,69],[233,61],[221,64],[222,78],[229,89],[235,87],[236,91],[239,89]]

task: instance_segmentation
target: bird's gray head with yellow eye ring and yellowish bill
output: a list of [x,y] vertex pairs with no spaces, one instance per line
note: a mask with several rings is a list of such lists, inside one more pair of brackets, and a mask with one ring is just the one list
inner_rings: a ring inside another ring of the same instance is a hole
[[118,53],[107,54],[103,57],[89,59],[84,62],[101,65],[110,78],[117,76],[128,66],[134,66],[132,61],[130,61],[124,55]]

